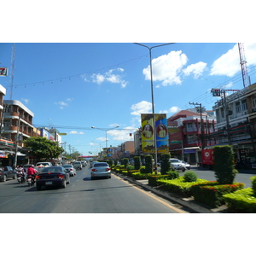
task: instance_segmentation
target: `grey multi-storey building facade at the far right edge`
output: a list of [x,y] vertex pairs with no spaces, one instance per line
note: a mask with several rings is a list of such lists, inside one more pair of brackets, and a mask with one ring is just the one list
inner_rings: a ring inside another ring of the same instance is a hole
[[211,137],[217,144],[232,145],[236,159],[256,160],[256,84],[229,96],[223,90],[222,99],[215,103],[213,110],[217,125]]

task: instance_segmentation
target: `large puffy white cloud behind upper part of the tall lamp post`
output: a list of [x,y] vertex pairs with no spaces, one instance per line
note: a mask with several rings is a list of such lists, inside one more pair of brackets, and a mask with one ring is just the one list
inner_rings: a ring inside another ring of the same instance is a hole
[[[161,81],[161,85],[181,84],[180,73],[188,62],[188,57],[179,51],[171,51],[167,55],[152,60],[154,81]],[[145,79],[150,80],[150,66],[143,69]],[[159,86],[158,86],[159,87]]]

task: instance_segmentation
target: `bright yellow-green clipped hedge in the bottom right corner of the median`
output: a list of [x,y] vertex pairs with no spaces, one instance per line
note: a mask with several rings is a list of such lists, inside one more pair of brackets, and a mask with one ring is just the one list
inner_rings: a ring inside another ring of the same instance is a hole
[[252,188],[237,190],[223,197],[232,212],[256,213],[256,197]]

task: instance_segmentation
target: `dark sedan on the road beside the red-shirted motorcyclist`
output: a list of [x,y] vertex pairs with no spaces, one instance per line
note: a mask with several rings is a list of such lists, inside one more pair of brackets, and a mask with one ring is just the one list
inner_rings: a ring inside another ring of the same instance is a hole
[[67,183],[70,183],[70,176],[67,170],[62,166],[45,167],[44,170],[39,172],[36,176],[36,186],[38,190],[43,186],[60,186],[61,188],[66,188]]

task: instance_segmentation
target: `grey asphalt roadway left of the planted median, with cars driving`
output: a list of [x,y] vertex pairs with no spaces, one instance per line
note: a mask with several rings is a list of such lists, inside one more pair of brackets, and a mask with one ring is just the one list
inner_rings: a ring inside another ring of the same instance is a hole
[[0,183],[1,213],[183,213],[171,202],[112,175],[90,180],[86,166],[66,189],[38,191],[16,180]]

